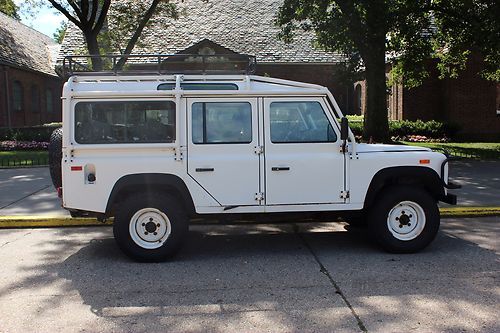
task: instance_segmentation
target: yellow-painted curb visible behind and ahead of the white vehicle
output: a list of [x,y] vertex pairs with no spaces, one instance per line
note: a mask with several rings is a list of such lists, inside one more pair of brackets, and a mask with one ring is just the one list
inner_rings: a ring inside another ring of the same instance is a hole
[[[439,209],[442,218],[500,216],[500,207],[450,207]],[[0,229],[90,227],[113,225],[112,219],[99,222],[95,218],[64,216],[0,216]]]

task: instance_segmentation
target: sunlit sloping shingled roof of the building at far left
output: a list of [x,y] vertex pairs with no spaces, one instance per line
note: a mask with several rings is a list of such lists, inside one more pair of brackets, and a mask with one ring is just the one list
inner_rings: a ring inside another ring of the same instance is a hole
[[0,13],[0,63],[56,76],[59,44]]

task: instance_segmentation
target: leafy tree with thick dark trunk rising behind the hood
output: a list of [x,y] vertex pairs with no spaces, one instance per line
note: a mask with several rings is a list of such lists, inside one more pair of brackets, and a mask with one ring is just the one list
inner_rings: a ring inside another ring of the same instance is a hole
[[407,86],[428,76],[426,63],[438,57],[442,75],[456,76],[471,52],[482,55],[483,75],[498,80],[498,0],[285,0],[276,22],[281,37],[297,29],[316,33],[320,47],[342,52],[349,68],[367,81],[363,135],[388,140],[386,63]]

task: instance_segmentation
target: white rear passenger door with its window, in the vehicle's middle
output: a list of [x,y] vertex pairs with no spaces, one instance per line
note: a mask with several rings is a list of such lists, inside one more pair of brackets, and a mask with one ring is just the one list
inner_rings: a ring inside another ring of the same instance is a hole
[[257,100],[188,99],[188,173],[222,206],[258,205]]

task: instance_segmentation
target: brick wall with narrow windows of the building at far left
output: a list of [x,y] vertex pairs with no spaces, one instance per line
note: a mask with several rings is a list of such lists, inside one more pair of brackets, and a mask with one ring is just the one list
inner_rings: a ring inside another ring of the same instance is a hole
[[[0,127],[25,127],[61,121],[63,82],[60,78],[9,66],[3,66],[0,74]],[[13,85],[16,81],[23,90],[20,110],[13,108]],[[38,107],[33,102],[32,87],[38,89]],[[47,91],[52,91],[52,112],[47,110]]]

